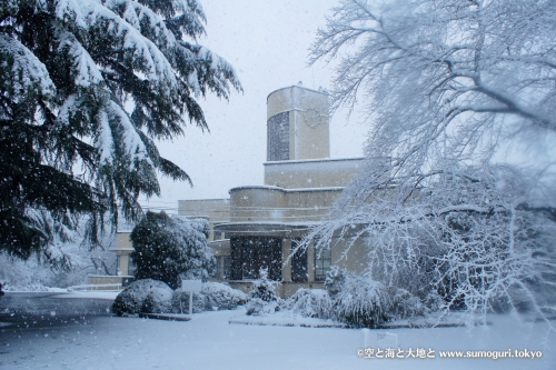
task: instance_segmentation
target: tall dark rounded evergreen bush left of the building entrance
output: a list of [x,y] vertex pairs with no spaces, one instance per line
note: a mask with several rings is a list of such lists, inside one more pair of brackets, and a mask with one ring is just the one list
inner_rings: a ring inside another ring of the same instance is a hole
[[180,277],[206,280],[216,263],[208,230],[205,219],[148,211],[130,236],[136,279],[161,280],[172,289]]

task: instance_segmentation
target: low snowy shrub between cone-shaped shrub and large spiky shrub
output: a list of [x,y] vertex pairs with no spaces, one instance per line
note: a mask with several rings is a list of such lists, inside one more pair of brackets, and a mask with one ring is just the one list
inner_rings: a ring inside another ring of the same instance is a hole
[[332,300],[324,289],[298,289],[285,304],[305,318],[330,318]]

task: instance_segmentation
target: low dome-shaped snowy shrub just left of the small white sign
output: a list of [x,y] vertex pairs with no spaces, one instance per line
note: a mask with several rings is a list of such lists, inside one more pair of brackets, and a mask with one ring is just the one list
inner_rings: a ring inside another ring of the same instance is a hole
[[143,279],[133,281],[116,297],[112,312],[123,313],[163,313],[171,312],[172,290],[165,282]]

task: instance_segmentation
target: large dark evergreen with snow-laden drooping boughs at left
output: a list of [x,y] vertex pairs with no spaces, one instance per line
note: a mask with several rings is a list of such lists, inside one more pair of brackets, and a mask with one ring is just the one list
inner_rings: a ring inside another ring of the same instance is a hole
[[159,194],[157,171],[187,173],[155,140],[207,129],[196,98],[228,99],[230,64],[196,43],[196,0],[3,0],[0,3],[0,251],[27,259],[90,216],[98,242]]

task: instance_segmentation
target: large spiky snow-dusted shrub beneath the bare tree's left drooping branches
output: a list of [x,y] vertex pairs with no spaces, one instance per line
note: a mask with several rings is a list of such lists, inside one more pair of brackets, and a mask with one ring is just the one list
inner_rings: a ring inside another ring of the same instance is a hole
[[325,288],[332,300],[332,318],[356,328],[375,328],[387,320],[391,302],[380,282],[332,268]]

